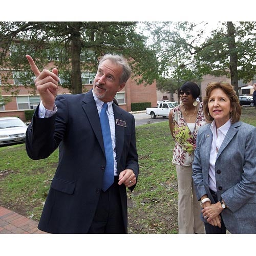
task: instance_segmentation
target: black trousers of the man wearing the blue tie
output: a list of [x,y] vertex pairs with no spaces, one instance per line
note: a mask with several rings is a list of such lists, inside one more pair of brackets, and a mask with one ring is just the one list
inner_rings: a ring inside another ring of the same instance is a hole
[[125,233],[122,217],[118,177],[105,192],[100,191],[98,206],[89,234],[123,234]]

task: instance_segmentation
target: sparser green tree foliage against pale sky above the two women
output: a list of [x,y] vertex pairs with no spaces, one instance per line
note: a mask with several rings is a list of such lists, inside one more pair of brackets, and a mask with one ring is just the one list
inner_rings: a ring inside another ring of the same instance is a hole
[[200,80],[203,75],[227,75],[238,80],[256,76],[255,22],[147,23],[164,77],[174,81]]

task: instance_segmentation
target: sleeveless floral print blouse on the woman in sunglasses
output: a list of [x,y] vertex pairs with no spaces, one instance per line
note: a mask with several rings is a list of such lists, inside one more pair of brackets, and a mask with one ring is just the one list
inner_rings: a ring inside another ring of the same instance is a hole
[[206,124],[206,121],[203,112],[203,103],[199,102],[194,131],[191,133],[180,108],[181,105],[176,106],[173,110],[172,116],[173,135],[175,138],[172,162],[178,165],[189,166],[192,165],[194,160],[197,132],[201,126]]

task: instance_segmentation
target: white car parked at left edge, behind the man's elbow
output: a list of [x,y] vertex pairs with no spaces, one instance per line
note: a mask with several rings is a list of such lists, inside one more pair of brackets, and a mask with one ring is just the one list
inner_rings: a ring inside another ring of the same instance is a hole
[[18,117],[0,117],[0,145],[25,142],[27,128]]

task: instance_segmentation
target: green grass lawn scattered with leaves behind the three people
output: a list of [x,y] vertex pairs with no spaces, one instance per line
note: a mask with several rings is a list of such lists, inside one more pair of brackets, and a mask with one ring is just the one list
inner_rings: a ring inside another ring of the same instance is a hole
[[[256,109],[242,108],[241,120],[256,126]],[[127,191],[129,233],[177,233],[177,179],[174,141],[168,120],[136,127],[140,175]],[[58,161],[31,160],[25,144],[0,147],[0,205],[39,220]]]

